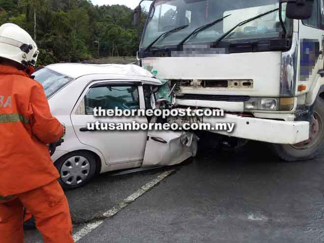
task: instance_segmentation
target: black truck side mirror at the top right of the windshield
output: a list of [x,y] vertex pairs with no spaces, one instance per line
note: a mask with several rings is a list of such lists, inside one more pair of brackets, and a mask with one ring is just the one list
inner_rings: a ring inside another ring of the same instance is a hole
[[307,20],[312,16],[314,0],[282,0],[287,2],[286,16],[289,19]]

